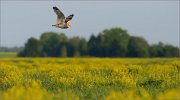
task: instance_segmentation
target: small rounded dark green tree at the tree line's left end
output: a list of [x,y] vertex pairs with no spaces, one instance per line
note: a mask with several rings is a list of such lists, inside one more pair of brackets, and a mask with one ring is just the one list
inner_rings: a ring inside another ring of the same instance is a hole
[[41,52],[41,44],[39,40],[35,38],[28,39],[25,44],[24,50],[20,52],[19,56],[24,57],[38,57]]

